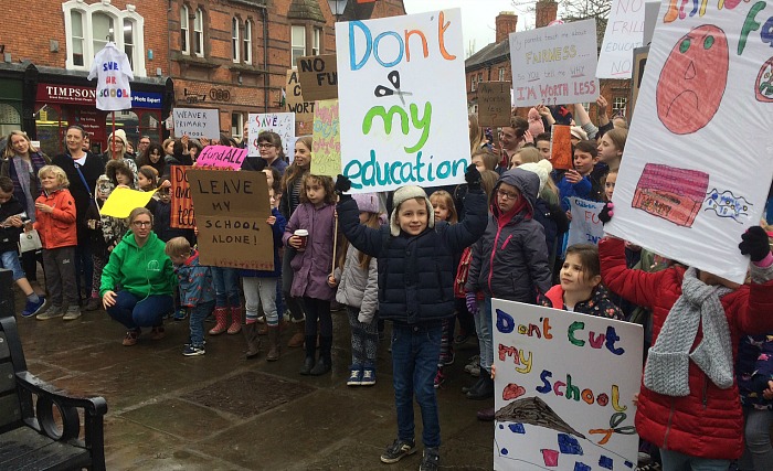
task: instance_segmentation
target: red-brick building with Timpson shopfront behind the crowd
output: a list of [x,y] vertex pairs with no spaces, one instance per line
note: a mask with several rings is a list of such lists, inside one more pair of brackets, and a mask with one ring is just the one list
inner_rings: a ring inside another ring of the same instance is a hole
[[49,154],[73,122],[94,151],[106,148],[113,117],[96,109],[86,76],[108,39],[134,69],[135,107],[115,114],[130,140],[168,136],[173,106],[216,107],[221,131],[240,137],[247,113],[283,110],[296,56],[335,52],[336,20],[405,14],[402,0],[349,0],[338,18],[326,0],[29,0],[24,10],[34,34],[22,12],[0,19],[0,136],[22,129]]

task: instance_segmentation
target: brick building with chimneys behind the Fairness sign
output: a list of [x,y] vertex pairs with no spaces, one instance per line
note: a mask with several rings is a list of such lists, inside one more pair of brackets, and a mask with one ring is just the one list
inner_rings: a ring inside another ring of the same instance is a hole
[[[536,26],[542,28],[557,19],[558,2],[538,0],[536,3]],[[508,36],[516,31],[518,15],[502,11],[496,18],[496,40],[476,52],[465,61],[467,81],[467,104],[470,111],[477,111],[476,86],[480,82],[512,82],[510,63],[510,42]],[[611,116],[625,110],[631,94],[631,81],[599,81],[601,95],[610,103]],[[526,117],[528,109],[518,109],[518,115]],[[589,107],[591,119],[596,117],[595,106]]]

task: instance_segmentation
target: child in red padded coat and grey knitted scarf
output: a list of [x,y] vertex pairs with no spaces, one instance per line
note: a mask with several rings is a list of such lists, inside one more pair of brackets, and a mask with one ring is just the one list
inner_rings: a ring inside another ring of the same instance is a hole
[[[610,205],[599,216],[607,222]],[[664,470],[726,470],[743,453],[743,413],[734,378],[742,333],[773,331],[773,254],[759,226],[742,235],[749,285],[675,266],[627,268],[625,243],[599,244],[610,289],[653,311],[653,346],[638,395],[636,430],[660,447]],[[764,285],[763,285],[764,283]]]

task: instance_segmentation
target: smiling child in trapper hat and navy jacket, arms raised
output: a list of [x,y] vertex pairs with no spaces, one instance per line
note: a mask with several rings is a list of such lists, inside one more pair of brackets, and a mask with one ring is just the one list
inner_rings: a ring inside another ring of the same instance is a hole
[[[537,179],[537,176],[534,176]],[[432,203],[420,186],[394,192],[390,224],[371,228],[360,223],[357,203],[341,194],[338,215],[347,239],[379,259],[379,317],[392,320],[392,370],[398,438],[381,454],[395,463],[416,451],[413,396],[422,410],[422,469],[440,464],[441,426],[433,381],[441,354],[443,319],[454,315],[454,254],[475,243],[485,229],[486,195],[480,172],[467,168],[466,216],[460,224],[435,223]],[[338,175],[336,191],[351,181]]]

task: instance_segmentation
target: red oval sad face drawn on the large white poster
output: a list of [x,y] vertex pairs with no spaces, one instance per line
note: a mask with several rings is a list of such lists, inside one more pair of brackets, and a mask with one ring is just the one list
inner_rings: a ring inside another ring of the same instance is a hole
[[689,135],[713,118],[728,82],[728,39],[703,24],[674,45],[656,90],[660,122],[676,135]]

